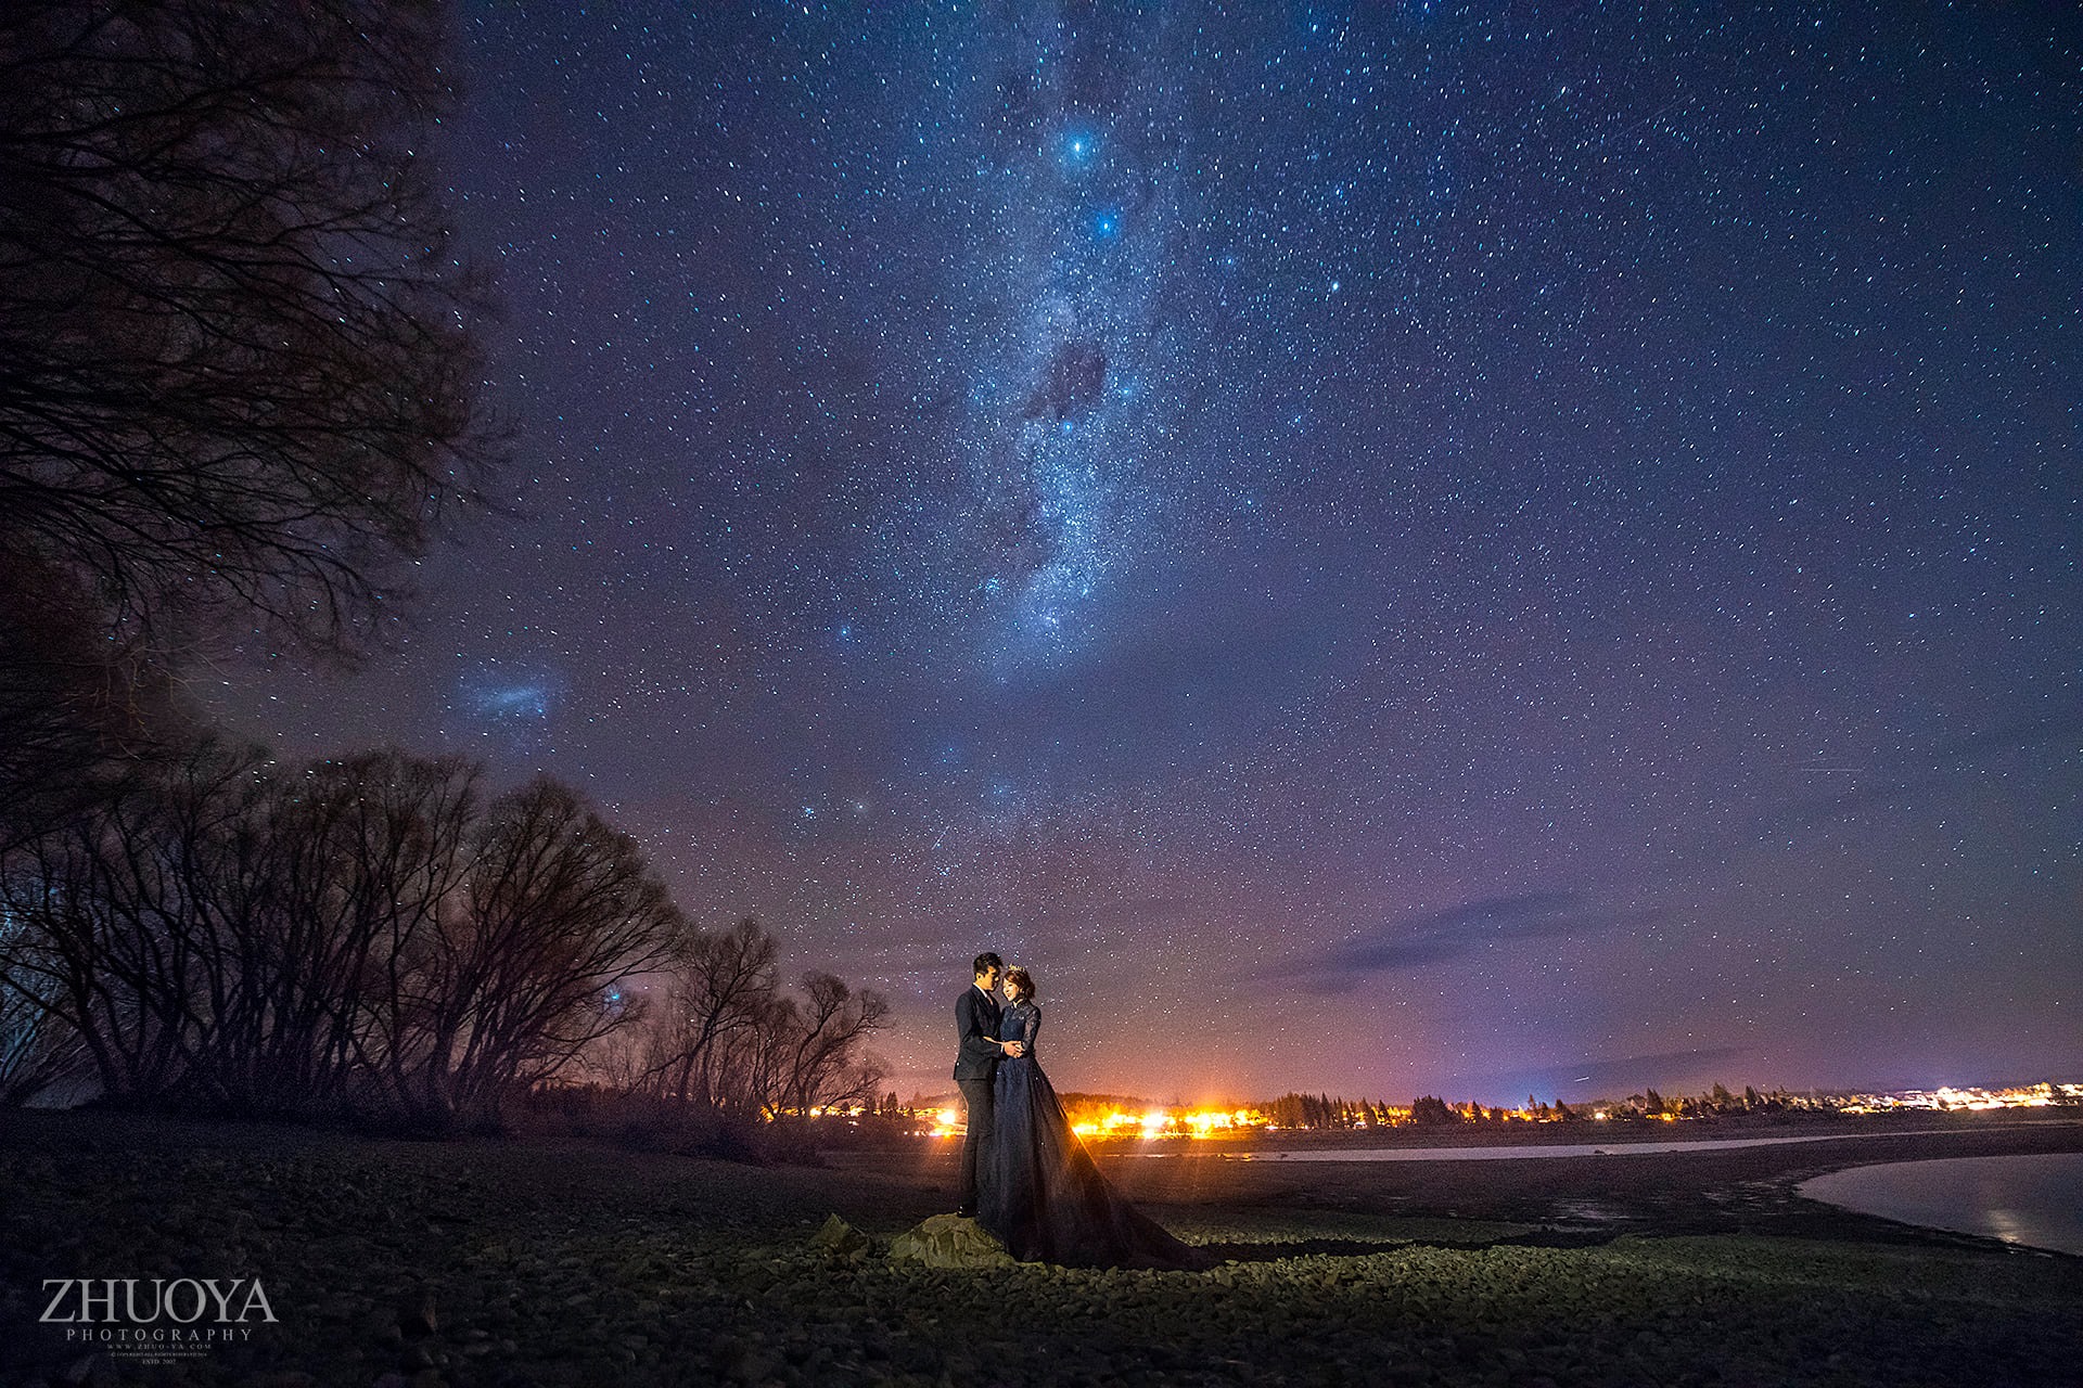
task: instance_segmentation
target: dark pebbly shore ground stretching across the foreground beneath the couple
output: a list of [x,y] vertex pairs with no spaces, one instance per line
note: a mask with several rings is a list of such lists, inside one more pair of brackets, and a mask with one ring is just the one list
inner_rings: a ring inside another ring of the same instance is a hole
[[[1225,1259],[1129,1274],[889,1263],[894,1234],[950,1205],[948,1142],[750,1167],[17,1113],[0,1117],[0,1382],[2083,1382],[2083,1259],[1793,1194],[1852,1163],[2083,1151],[2083,1126],[1900,1128],[1527,1161],[1127,1149],[1110,1176]],[[875,1246],[814,1246],[831,1213]],[[83,1342],[110,1326],[92,1305],[87,1328],[42,1319],[71,1278],[146,1294],[258,1278],[275,1319],[148,1342],[148,1361]]]

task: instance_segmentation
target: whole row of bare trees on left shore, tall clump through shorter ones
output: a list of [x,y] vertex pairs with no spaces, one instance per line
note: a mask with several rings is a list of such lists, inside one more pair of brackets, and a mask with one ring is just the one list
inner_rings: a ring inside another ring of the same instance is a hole
[[279,768],[200,743],[0,874],[0,1097],[496,1124],[594,1082],[744,1120],[873,1095],[887,1005],[779,984],[550,778],[460,757]]

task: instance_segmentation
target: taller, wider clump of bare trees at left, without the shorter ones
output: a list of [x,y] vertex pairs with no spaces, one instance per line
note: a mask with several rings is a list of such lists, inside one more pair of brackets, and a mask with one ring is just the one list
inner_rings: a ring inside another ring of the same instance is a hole
[[623,982],[679,916],[564,787],[479,805],[477,782],[198,747],[10,855],[8,1007],[75,1036],[112,1101],[498,1120],[639,1018]]

